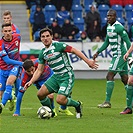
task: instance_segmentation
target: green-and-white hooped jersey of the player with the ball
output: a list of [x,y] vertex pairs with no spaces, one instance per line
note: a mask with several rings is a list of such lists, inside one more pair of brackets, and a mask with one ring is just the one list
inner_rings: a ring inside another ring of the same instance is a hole
[[49,48],[43,48],[39,54],[39,63],[48,65],[54,74],[63,74],[72,70],[68,54],[65,52],[68,45],[62,42],[53,41]]

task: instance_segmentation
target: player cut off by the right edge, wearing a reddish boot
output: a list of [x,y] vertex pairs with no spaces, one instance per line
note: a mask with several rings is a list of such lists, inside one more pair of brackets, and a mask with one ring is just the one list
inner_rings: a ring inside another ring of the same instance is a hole
[[[127,53],[124,55],[124,60],[128,60],[129,54],[133,51],[133,44],[127,51]],[[120,114],[132,114],[132,100],[133,100],[133,65],[131,66],[130,72],[129,72],[129,78],[127,82],[127,91],[126,91],[126,102],[127,107],[120,112]]]

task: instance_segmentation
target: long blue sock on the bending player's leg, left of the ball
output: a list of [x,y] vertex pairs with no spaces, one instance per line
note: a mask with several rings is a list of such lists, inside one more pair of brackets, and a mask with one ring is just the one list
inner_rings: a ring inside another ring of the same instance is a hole
[[21,107],[21,102],[22,102],[23,95],[24,95],[24,92],[18,91],[17,102],[16,102],[16,110],[15,110],[14,114],[20,115],[20,107]]

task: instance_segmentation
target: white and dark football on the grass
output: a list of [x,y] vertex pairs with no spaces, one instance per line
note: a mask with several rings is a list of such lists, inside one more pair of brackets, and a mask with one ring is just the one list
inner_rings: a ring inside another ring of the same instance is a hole
[[52,111],[48,106],[41,106],[37,111],[37,115],[40,119],[50,119]]

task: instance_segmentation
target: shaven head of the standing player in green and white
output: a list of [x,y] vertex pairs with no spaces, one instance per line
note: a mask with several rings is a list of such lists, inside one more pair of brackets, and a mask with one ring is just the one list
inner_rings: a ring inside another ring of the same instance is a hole
[[113,9],[110,9],[107,12],[107,22],[109,24],[113,24],[116,21],[116,11]]

